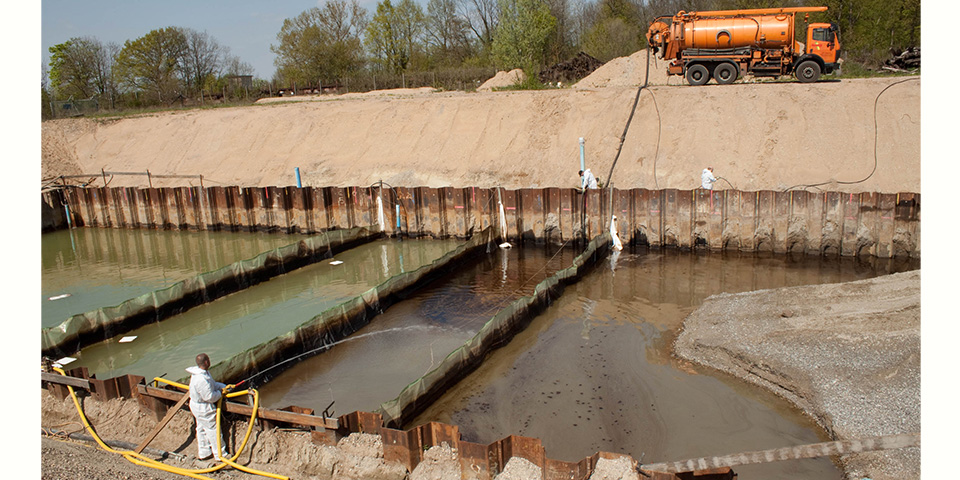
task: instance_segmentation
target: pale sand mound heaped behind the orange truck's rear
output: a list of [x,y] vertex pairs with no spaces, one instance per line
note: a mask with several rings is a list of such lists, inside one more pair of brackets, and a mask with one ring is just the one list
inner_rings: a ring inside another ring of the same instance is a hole
[[[679,76],[668,77],[667,62],[650,53],[648,85],[680,85]],[[639,50],[629,57],[619,57],[603,64],[583,80],[573,85],[578,89],[603,87],[636,87],[643,85],[647,75],[647,50]]]

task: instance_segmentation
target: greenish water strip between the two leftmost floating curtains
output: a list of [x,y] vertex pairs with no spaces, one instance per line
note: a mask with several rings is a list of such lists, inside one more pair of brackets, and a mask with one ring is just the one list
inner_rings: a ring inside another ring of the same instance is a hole
[[[290,332],[325,310],[388,278],[417,269],[454,250],[456,240],[376,240],[334,259],[274,277],[179,315],[84,348],[70,368],[98,378],[123,374],[148,379],[187,376],[197,353],[216,364]],[[342,263],[337,263],[342,262]],[[129,343],[123,337],[135,336]]]

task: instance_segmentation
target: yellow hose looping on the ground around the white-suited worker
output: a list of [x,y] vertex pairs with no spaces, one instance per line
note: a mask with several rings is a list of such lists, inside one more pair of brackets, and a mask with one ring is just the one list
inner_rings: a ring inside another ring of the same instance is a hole
[[[56,371],[57,373],[59,373],[60,375],[63,375],[63,376],[66,376],[66,375],[67,375],[67,374],[63,371],[63,369],[61,369],[61,368],[54,367],[53,370]],[[169,381],[169,380],[164,380],[164,379],[162,379],[162,378],[155,378],[154,380],[157,381],[157,382],[165,383],[165,384],[167,384],[167,385],[175,386],[175,387],[177,387],[177,388],[181,388],[181,389],[183,389],[183,390],[189,390],[189,388],[190,388],[189,386],[184,385],[184,384],[182,384],[182,383],[171,382],[171,381]],[[234,468],[236,468],[236,469],[238,469],[238,470],[242,470],[242,471],[247,472],[247,473],[252,473],[252,474],[254,474],[254,475],[261,475],[261,476],[265,476],[265,477],[276,478],[276,479],[279,479],[279,480],[289,480],[288,477],[285,477],[285,476],[283,476],[283,475],[276,475],[276,474],[273,474],[273,473],[261,472],[261,471],[254,470],[254,469],[252,469],[252,468],[244,467],[244,466],[242,466],[242,465],[239,465],[239,464],[234,463],[234,461],[235,461],[237,458],[240,457],[240,453],[243,452],[244,447],[246,447],[246,445],[247,445],[247,440],[250,438],[250,433],[253,431],[253,423],[254,423],[254,421],[256,420],[256,417],[257,417],[257,408],[258,408],[259,403],[260,403],[260,394],[259,394],[256,390],[254,390],[254,389],[243,390],[243,391],[240,391],[240,392],[229,393],[229,394],[226,395],[228,398],[233,398],[233,397],[238,397],[238,396],[241,396],[241,395],[246,395],[246,394],[249,394],[249,393],[251,393],[251,392],[253,393],[253,414],[250,416],[250,423],[247,425],[247,433],[246,433],[246,435],[243,437],[243,442],[240,444],[240,448],[237,449],[237,453],[234,454],[233,458],[231,458],[231,459],[229,459],[229,460],[228,460],[228,459],[221,459],[221,460],[223,460],[223,463],[220,463],[220,464],[215,465],[215,466],[210,467],[210,468],[204,468],[204,469],[199,469],[199,470],[190,470],[190,469],[186,469],[186,468],[179,468],[179,467],[173,467],[173,466],[170,466],[170,465],[166,465],[166,464],[163,464],[163,463],[161,463],[161,462],[158,462],[158,461],[156,461],[156,460],[154,460],[154,459],[152,459],[152,458],[149,458],[149,457],[143,456],[143,455],[141,455],[141,454],[139,454],[139,453],[137,453],[137,452],[134,452],[133,450],[114,450],[114,449],[110,448],[110,446],[108,446],[106,443],[103,442],[103,440],[100,439],[100,436],[97,435],[97,432],[95,432],[95,431],[93,430],[93,427],[90,425],[90,422],[87,420],[87,416],[83,413],[83,408],[80,406],[80,401],[77,400],[77,395],[76,395],[76,392],[73,391],[73,387],[71,387],[70,385],[67,385],[67,389],[70,391],[70,397],[73,399],[73,404],[77,407],[77,413],[80,414],[80,419],[83,421],[83,426],[87,429],[88,432],[90,432],[90,435],[93,437],[94,440],[96,440],[97,444],[100,445],[101,448],[103,448],[104,450],[106,450],[106,451],[108,451],[108,452],[110,452],[110,453],[116,453],[116,454],[119,454],[119,455],[123,455],[124,458],[126,458],[129,462],[131,462],[131,463],[133,463],[133,464],[135,464],[135,465],[140,465],[140,466],[144,466],[144,467],[155,468],[155,469],[157,469],[157,470],[163,470],[163,471],[166,471],[166,472],[170,472],[170,473],[177,474],[177,475],[184,475],[184,476],[191,477],[191,478],[204,479],[204,480],[213,480],[213,479],[211,479],[210,477],[205,477],[205,476],[200,475],[200,474],[201,474],[201,473],[210,473],[210,472],[214,472],[214,471],[220,470],[220,469],[226,467],[226,466],[229,464],[230,466],[232,466],[232,467],[234,467]],[[223,402],[223,397],[221,396],[220,401],[217,402],[217,451],[218,451],[218,452],[220,451],[220,436],[221,436],[221,435],[220,435],[220,405],[221,405],[222,402]]]

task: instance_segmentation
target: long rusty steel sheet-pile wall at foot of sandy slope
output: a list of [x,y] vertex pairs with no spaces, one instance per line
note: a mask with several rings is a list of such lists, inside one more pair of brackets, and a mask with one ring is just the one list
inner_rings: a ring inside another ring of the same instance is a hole
[[[920,257],[920,194],[499,187],[60,187],[45,230],[72,226],[313,234],[378,222],[388,235],[467,238],[500,223],[517,243],[586,243],[617,216],[652,248]],[[65,204],[65,205],[64,205]],[[399,227],[398,227],[399,224]]]

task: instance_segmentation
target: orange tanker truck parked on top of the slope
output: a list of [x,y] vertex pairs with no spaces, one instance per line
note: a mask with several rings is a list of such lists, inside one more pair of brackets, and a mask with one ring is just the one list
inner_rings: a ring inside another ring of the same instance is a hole
[[[733,83],[741,74],[757,77],[796,75],[804,83],[839,70],[840,39],[832,23],[811,23],[806,45],[797,42],[798,13],[827,7],[764,8],[708,12],[681,11],[659,17],[647,30],[654,53],[672,60],[670,75],[683,75],[690,85],[710,78]],[[801,33],[802,35],[802,33]]]

